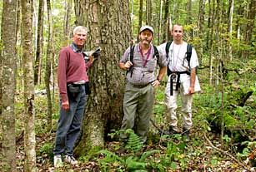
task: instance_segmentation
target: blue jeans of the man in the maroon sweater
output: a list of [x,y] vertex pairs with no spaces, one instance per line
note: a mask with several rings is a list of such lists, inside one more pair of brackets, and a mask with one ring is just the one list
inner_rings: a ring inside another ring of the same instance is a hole
[[[73,145],[81,130],[86,98],[82,85],[81,91],[75,96],[68,93],[69,111],[63,111],[62,106],[60,107],[54,155],[73,155]],[[60,104],[62,105],[62,102]]]

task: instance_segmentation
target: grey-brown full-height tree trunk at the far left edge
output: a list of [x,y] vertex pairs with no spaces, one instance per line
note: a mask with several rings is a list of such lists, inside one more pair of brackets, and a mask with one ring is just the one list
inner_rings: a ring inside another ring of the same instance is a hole
[[[16,88],[16,9],[17,1],[3,2],[1,37],[1,110],[0,122],[3,138],[0,154],[0,171],[16,171],[15,113]],[[2,47],[1,47],[2,49]],[[2,97],[4,97],[2,99]]]

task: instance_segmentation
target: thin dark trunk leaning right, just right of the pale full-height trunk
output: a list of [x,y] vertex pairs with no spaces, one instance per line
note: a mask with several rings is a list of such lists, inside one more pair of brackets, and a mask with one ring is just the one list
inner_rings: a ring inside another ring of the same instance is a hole
[[38,5],[38,34],[37,34],[37,50],[34,71],[34,83],[40,84],[41,81],[41,61],[42,61],[42,47],[43,47],[43,13],[44,13],[44,0],[39,0]]

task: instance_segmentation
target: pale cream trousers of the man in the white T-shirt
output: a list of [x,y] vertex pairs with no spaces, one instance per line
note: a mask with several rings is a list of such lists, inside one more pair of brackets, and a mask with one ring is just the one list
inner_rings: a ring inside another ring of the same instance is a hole
[[190,129],[193,125],[192,122],[192,101],[193,95],[184,95],[183,86],[180,85],[178,91],[176,91],[176,83],[173,83],[173,96],[170,96],[170,81],[168,80],[165,88],[165,105],[167,107],[167,113],[169,117],[169,125],[173,127],[173,130],[178,131],[178,96],[181,96],[181,114],[183,116],[183,129]]

